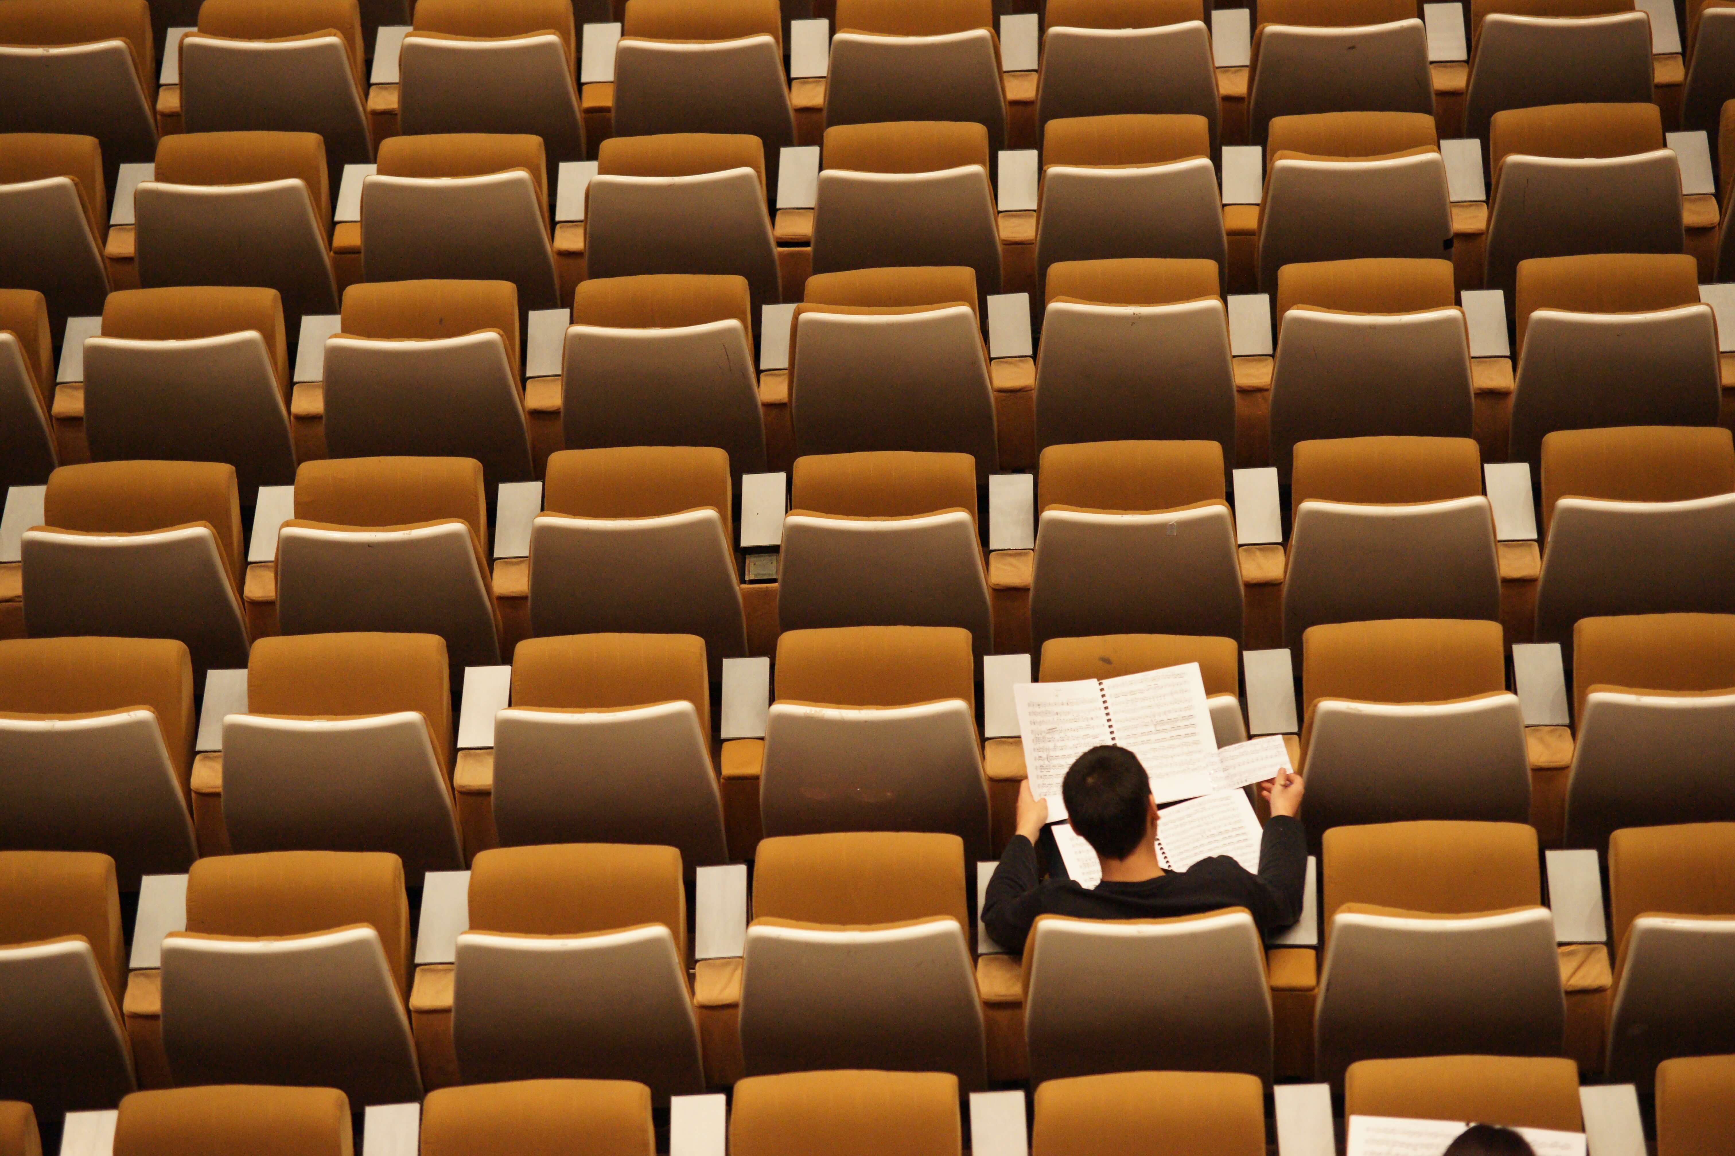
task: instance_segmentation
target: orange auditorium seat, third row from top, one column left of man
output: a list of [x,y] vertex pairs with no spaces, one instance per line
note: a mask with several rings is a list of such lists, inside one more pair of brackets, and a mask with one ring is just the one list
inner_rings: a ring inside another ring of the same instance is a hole
[[975,272],[953,267],[815,274],[789,324],[795,452],[900,449],[999,464]]

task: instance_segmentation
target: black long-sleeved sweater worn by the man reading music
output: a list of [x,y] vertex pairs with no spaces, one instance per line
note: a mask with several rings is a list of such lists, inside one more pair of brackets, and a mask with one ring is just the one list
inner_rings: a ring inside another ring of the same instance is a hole
[[1070,879],[1041,879],[1036,848],[1013,835],[994,868],[982,903],[982,922],[994,943],[1024,951],[1024,938],[1038,915],[1079,919],[1173,919],[1225,906],[1253,912],[1260,931],[1282,931],[1301,917],[1306,884],[1306,835],[1301,822],[1286,815],[1265,823],[1260,842],[1260,873],[1218,854],[1199,860],[1185,872],[1166,872],[1143,882],[1103,880],[1086,891]]

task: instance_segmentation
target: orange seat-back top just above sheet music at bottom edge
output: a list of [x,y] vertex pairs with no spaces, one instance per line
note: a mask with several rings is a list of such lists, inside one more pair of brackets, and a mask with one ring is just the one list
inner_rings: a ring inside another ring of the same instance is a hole
[[1476,1120],[1506,1128],[1582,1132],[1579,1066],[1570,1059],[1426,1055],[1364,1059],[1343,1083],[1345,1113]]

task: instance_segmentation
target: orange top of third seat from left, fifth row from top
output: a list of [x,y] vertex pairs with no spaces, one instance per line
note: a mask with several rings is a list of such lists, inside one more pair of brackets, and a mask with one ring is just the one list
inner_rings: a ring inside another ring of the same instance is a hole
[[691,702],[711,733],[704,640],[694,634],[526,638],[512,657],[512,705],[566,711]]

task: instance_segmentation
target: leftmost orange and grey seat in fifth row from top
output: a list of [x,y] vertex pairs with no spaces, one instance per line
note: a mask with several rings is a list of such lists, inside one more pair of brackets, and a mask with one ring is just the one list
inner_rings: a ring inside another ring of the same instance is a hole
[[101,851],[125,891],[187,870],[193,660],[167,638],[0,641],[0,848]]

